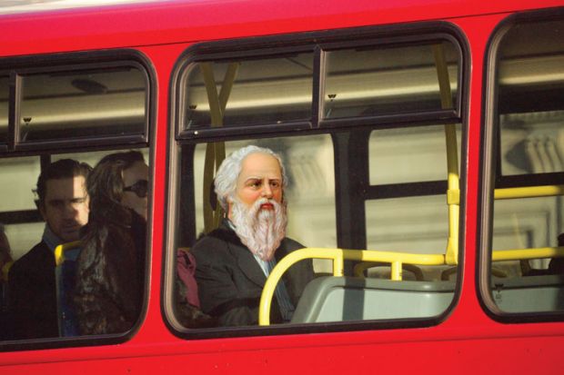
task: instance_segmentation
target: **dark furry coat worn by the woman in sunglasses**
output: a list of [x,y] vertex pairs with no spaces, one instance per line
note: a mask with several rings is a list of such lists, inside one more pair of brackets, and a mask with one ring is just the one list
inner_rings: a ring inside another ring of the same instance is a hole
[[106,222],[86,236],[76,259],[75,308],[80,334],[121,333],[139,318],[145,280],[146,222]]

